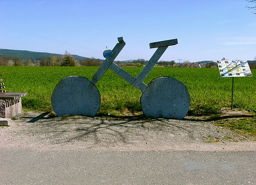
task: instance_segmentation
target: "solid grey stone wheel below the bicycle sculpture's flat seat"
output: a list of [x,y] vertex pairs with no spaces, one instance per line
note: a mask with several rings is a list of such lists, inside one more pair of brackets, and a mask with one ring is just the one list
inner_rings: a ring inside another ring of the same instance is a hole
[[148,84],[140,103],[149,117],[183,119],[188,113],[190,97],[182,82],[172,77],[160,77]]

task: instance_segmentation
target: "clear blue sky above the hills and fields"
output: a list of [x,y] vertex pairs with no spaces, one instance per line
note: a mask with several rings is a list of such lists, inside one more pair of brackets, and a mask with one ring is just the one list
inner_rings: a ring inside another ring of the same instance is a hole
[[[178,39],[160,60],[253,60],[256,15],[246,0],[0,0],[0,48],[116,60],[150,59],[149,43]],[[251,4],[254,5],[254,4]],[[182,62],[181,61],[181,62]]]

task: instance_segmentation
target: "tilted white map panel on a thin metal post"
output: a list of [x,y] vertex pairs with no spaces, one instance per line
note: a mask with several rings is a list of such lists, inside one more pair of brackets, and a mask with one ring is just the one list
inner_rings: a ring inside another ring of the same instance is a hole
[[221,77],[252,76],[247,60],[217,60]]

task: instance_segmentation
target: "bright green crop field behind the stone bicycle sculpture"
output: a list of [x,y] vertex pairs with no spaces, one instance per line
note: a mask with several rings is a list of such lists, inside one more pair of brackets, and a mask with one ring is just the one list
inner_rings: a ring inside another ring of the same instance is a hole
[[[83,76],[92,79],[98,67],[0,67],[6,91],[28,92],[22,98],[27,110],[52,110],[51,95],[60,79]],[[142,67],[124,67],[136,77]],[[256,112],[256,70],[252,77],[236,77],[234,107]],[[188,87],[191,105],[188,115],[217,114],[221,107],[231,106],[232,78],[221,78],[218,69],[154,67],[144,83],[161,76],[171,76]],[[96,83],[101,94],[99,114],[141,112],[142,92],[108,69]],[[175,88],[175,87],[173,87]],[[75,89],[73,90],[75,93]],[[161,93],[161,92],[159,92]]]

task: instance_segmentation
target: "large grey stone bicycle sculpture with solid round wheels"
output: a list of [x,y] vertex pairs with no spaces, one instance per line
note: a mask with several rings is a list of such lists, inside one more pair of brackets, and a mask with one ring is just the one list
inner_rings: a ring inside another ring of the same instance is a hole
[[152,118],[184,118],[190,106],[190,97],[188,89],[183,83],[172,77],[153,79],[148,85],[143,83],[168,46],[177,43],[177,39],[150,43],[149,47],[157,48],[157,50],[137,78],[134,78],[113,63],[125,46],[123,37],[119,37],[113,50],[103,52],[106,59],[91,81],[79,76],[68,76],[60,80],[52,92],[53,110],[57,116],[79,114],[94,117],[100,109],[101,101],[100,92],[95,84],[109,68],[143,92],[140,103],[145,115]]

